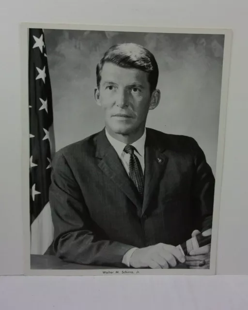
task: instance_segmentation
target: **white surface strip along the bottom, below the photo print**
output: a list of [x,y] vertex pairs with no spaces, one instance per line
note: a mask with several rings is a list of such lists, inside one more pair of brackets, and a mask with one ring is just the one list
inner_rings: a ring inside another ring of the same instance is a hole
[[13,276],[0,284],[1,310],[246,310],[248,303],[246,276]]

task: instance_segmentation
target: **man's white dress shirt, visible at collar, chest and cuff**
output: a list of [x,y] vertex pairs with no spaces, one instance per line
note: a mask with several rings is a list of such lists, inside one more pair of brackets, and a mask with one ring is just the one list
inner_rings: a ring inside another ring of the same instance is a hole
[[[130,154],[127,154],[124,152],[124,147],[126,146],[125,143],[114,139],[113,137],[111,137],[106,130],[106,136],[110,142],[110,144],[113,146],[113,148],[115,149],[116,153],[118,154],[119,158],[121,159],[123,166],[127,172],[127,174],[129,175],[129,160],[130,160]],[[140,137],[139,140],[133,142],[132,146],[134,146],[136,148],[136,151],[134,151],[134,154],[138,157],[138,159],[140,160],[140,165],[141,168],[143,170],[145,170],[145,139],[146,139],[146,130],[144,131],[142,137]],[[133,254],[133,252],[136,250],[137,248],[131,248],[130,250],[128,250],[124,257],[123,257],[123,261],[122,263],[124,263],[125,265],[127,265],[128,267],[130,267],[130,258]]]

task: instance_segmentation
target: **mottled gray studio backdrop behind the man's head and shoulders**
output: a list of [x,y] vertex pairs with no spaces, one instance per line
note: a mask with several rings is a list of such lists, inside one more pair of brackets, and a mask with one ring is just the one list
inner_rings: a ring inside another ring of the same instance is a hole
[[95,104],[95,68],[117,43],[147,47],[159,67],[159,106],[147,126],[191,136],[216,171],[223,35],[45,30],[51,77],[56,151],[100,131],[103,112]]

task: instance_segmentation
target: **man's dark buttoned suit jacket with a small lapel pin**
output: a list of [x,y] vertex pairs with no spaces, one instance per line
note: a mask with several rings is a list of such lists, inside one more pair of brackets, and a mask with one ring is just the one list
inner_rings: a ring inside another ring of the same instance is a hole
[[123,267],[132,247],[177,246],[212,225],[215,179],[197,142],[147,128],[140,201],[105,129],[52,163],[54,250],[63,260]]

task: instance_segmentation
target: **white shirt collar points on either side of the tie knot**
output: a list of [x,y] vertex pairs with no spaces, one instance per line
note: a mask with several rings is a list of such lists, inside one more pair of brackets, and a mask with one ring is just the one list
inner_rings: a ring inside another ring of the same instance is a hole
[[[105,132],[106,132],[106,136],[107,136],[110,144],[113,146],[113,148],[115,149],[118,156],[121,157],[122,152],[123,152],[126,144],[119,141],[119,140],[114,139],[113,137],[111,137],[106,128],[105,128]],[[138,151],[138,153],[142,157],[145,154],[145,139],[146,139],[146,129],[145,129],[143,135],[140,137],[140,139],[131,144],[136,148],[136,150]]]

